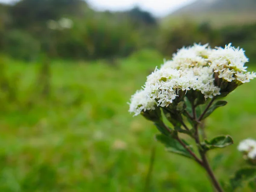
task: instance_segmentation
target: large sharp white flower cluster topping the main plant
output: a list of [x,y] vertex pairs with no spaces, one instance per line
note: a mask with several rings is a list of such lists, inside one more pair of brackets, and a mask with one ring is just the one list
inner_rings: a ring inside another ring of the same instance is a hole
[[158,106],[168,107],[190,90],[203,94],[205,99],[230,92],[256,77],[246,72],[247,61],[244,50],[231,44],[215,49],[208,44],[183,47],[147,77],[143,89],[131,97],[129,111],[138,115]]

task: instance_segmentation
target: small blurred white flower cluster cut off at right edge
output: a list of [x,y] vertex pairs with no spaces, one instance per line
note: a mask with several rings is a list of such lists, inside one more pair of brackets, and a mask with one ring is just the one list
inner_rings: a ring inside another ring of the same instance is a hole
[[239,143],[238,150],[244,152],[247,158],[256,159],[256,140],[246,139]]

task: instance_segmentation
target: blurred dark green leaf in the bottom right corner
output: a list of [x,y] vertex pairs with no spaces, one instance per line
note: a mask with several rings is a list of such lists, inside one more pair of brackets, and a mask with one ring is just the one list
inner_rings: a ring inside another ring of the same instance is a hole
[[230,185],[233,190],[241,187],[243,182],[256,178],[256,168],[243,168],[236,172],[235,176],[230,179]]

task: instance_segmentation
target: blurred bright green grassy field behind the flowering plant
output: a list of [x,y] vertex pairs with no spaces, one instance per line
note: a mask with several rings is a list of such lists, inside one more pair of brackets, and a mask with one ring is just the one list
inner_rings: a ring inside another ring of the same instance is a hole
[[[154,146],[148,191],[213,192],[204,170],[189,159],[168,154],[154,140],[157,130],[152,123],[128,113],[131,94],[163,63],[161,55],[148,50],[108,62],[52,61],[47,96],[41,93],[45,80],[40,78],[41,65],[8,59],[4,63],[1,192],[141,192]],[[7,81],[8,90],[14,92],[11,97],[4,91]],[[252,81],[231,93],[229,104],[207,122],[209,138],[230,134],[235,140],[209,154],[220,180],[245,165],[236,150],[239,141],[256,136],[255,86]]]

